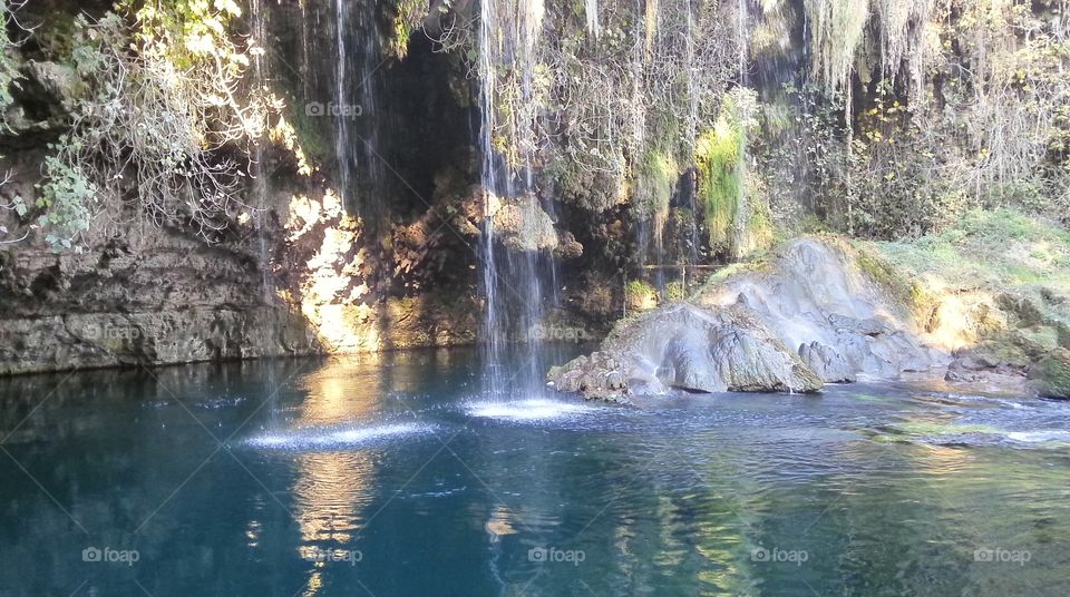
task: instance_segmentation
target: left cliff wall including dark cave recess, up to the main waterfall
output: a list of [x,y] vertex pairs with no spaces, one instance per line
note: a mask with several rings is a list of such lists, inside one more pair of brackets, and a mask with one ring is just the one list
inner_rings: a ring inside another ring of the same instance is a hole
[[[272,80],[291,108],[284,120],[300,130],[280,121],[282,137],[272,129],[260,141],[257,163],[243,165],[241,200],[220,215],[211,244],[184,222],[153,222],[137,209],[136,193],[117,183],[91,197],[93,223],[77,251],[54,249],[36,226],[43,213],[38,185],[49,144],[70,127],[81,84],[47,41],[69,37],[61,21],[111,4],[50,0],[20,13],[35,35],[10,52],[20,79],[0,115],[0,173],[8,175],[0,184],[0,374],[475,341],[476,256],[468,245],[478,229],[458,214],[471,148],[467,108],[444,82],[448,63],[421,47],[411,59],[380,65],[381,80],[369,86],[392,108],[380,108],[374,121],[409,124],[371,150],[389,156],[397,176],[354,185],[343,202],[328,149],[334,123],[305,110],[335,97],[334,56],[324,53],[334,36],[305,36],[313,20],[302,18],[307,8],[333,14],[327,2],[260,14],[271,62],[301,57],[300,72],[291,67]],[[367,4],[361,9],[379,13]]]

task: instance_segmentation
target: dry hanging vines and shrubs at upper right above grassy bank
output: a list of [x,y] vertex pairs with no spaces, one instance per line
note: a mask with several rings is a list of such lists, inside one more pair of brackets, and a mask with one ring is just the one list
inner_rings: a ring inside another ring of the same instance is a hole
[[[848,10],[868,14],[857,42],[857,28],[823,25],[859,22]],[[1068,222],[1070,31],[1060,13],[1048,1],[807,0],[817,77],[789,89],[796,130],[778,126],[759,157],[780,183],[779,205],[873,238],[936,234],[1000,206]],[[860,97],[836,82],[852,76]]]

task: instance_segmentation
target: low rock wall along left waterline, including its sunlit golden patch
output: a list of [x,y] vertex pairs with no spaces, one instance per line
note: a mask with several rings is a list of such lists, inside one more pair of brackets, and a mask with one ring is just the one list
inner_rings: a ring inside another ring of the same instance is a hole
[[[3,192],[32,200],[25,160]],[[264,206],[211,246],[134,217],[81,252],[33,238],[0,251],[0,374],[475,340],[475,290],[391,293],[392,260],[331,192],[276,189]]]

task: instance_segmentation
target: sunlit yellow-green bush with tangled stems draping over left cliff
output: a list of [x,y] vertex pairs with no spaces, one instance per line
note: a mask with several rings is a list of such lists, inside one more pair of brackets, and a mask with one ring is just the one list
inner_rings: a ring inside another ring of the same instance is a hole
[[242,164],[221,150],[247,159],[275,107],[241,87],[249,58],[228,32],[241,10],[233,0],[116,6],[133,20],[76,20],[70,61],[85,92],[51,147],[40,223],[49,242],[70,247],[93,217],[118,215],[100,209],[103,193],[211,242],[240,205]]

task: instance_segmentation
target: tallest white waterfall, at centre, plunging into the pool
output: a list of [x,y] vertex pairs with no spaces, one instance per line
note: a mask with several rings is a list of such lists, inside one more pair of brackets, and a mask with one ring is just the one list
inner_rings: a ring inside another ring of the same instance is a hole
[[[546,232],[539,223],[548,215],[535,195],[533,168],[534,74],[544,13],[542,0],[480,3],[484,341],[488,389],[495,397],[535,393],[543,386],[546,280],[552,284],[555,276],[553,256],[538,243]],[[503,94],[510,94],[513,100],[508,112],[499,112]],[[495,149],[503,136],[504,153]],[[504,214],[510,222],[499,222]],[[518,246],[503,243],[506,232]],[[519,362],[507,369],[505,344],[510,341],[519,341],[525,350]]]

